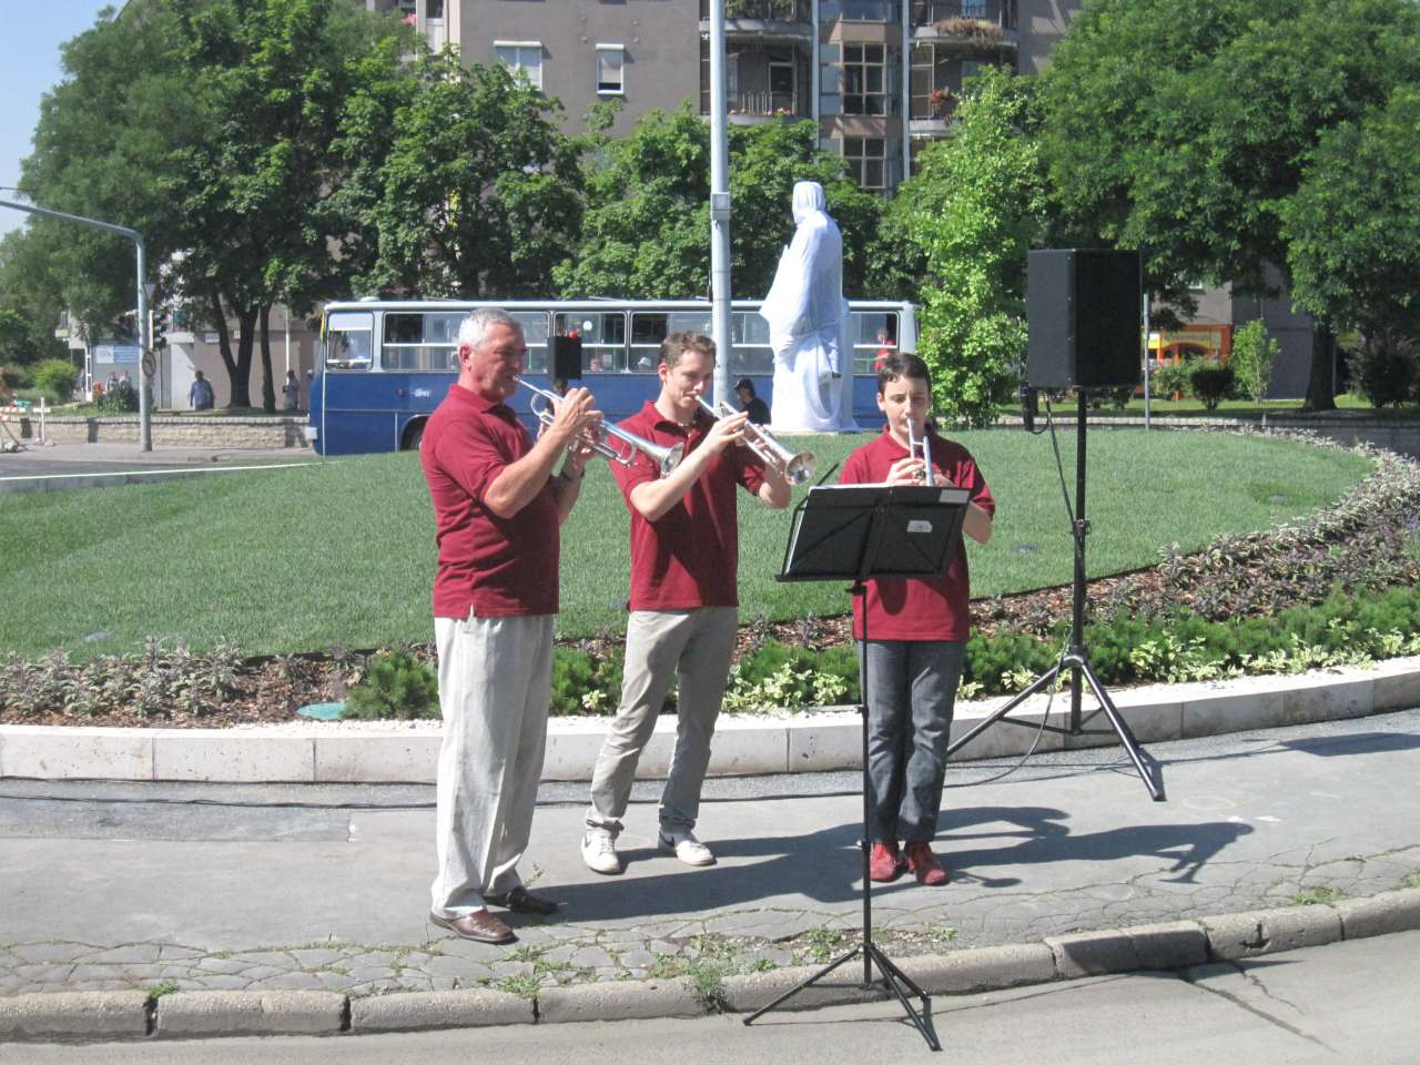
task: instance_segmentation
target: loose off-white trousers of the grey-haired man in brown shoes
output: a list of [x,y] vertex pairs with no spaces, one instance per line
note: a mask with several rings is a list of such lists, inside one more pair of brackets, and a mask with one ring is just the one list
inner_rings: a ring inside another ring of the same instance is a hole
[[439,646],[432,912],[459,917],[511,890],[532,831],[552,679],[552,615],[435,618]]

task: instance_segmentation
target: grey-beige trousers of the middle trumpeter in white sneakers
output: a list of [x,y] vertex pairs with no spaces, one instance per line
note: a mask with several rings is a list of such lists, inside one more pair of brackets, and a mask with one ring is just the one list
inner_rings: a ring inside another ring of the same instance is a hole
[[724,699],[738,621],[734,606],[632,611],[626,622],[621,706],[592,770],[588,828],[612,835],[622,831],[636,763],[656,730],[656,714],[676,674],[680,676],[676,751],[660,794],[660,826],[667,831],[696,826],[700,785],[710,765],[710,737]]

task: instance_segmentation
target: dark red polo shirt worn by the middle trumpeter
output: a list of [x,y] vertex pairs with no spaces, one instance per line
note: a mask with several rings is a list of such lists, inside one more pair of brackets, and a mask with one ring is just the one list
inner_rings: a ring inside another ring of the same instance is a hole
[[[704,440],[714,419],[704,410],[689,429],[665,417],[648,402],[619,426],[690,454]],[[646,521],[632,506],[638,484],[660,477],[656,464],[636,452],[630,466],[612,463],[616,484],[630,511],[630,601],[633,611],[689,611],[697,606],[738,606],[740,527],[734,486],[758,493],[764,464],[748,447],[726,447],[696,479],[674,507]]]

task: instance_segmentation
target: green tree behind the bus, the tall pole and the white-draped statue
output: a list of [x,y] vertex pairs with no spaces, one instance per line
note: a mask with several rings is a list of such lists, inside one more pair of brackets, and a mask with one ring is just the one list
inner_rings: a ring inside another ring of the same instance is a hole
[[[794,233],[794,182],[824,186],[843,234],[843,290],[865,294],[880,202],[818,149],[812,122],[731,126],[730,270],[738,293],[764,295]],[[577,254],[555,271],[565,297],[662,300],[706,295],[710,281],[710,128],[690,102],[643,115],[589,165]]]

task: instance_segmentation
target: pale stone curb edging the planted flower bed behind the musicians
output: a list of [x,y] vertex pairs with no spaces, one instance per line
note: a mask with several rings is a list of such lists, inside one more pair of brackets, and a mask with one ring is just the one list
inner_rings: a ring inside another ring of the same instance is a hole
[[[1140,743],[1230,731],[1365,717],[1420,706],[1420,657],[1372,669],[1230,682],[1156,684],[1115,693],[1119,711]],[[1068,700],[1065,700],[1068,703]],[[1000,700],[958,703],[953,737],[987,717]],[[1039,723],[1047,700],[1037,696],[1012,720]],[[795,719],[721,717],[710,761],[713,775],[828,772],[858,768],[861,726],[855,714],[808,713]],[[1062,701],[1049,706],[1058,723]],[[662,777],[674,748],[674,720],[663,719],[640,758],[640,774]],[[591,778],[606,721],[552,719],[545,781]],[[1100,730],[1106,733],[1106,730]],[[1034,728],[988,728],[963,757],[1020,755],[1037,750],[1115,743],[1112,734],[1062,737]],[[82,728],[0,726],[0,778],[223,782],[413,782],[435,781],[437,726],[354,731],[288,728]]]

